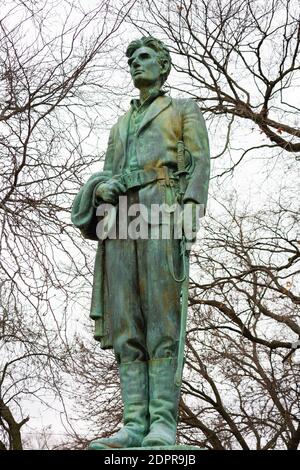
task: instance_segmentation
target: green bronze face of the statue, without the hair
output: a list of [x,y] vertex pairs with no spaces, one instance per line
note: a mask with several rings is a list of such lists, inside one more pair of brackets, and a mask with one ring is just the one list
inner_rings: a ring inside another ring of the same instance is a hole
[[162,74],[158,54],[150,47],[140,47],[128,60],[130,74],[136,88],[143,88],[157,83]]

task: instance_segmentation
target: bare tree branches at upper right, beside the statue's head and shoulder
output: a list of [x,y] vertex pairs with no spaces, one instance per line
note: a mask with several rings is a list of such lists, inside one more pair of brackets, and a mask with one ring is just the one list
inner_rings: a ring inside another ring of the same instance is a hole
[[225,171],[249,155],[300,152],[298,2],[140,0],[130,18],[168,44],[170,86],[211,121],[212,158]]

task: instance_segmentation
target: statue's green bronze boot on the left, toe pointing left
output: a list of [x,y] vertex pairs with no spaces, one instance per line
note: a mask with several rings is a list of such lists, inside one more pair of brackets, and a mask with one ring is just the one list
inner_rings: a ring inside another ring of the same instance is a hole
[[140,447],[149,431],[147,362],[120,364],[120,381],[124,426],[111,437],[92,441],[89,450]]

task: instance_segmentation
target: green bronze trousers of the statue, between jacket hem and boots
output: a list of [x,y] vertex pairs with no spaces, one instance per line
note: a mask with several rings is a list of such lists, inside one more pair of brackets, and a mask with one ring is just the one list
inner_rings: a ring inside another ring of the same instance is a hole
[[119,364],[176,357],[181,270],[180,240],[106,240],[105,271],[112,341]]

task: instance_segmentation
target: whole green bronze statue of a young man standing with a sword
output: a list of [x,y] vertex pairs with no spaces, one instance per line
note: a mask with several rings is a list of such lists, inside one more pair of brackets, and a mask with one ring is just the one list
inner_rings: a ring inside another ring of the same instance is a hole
[[[162,90],[171,69],[168,49],[143,37],[129,44],[126,55],[140,98],[111,129],[104,169],[83,186],[72,210],[73,223],[94,240],[97,206],[118,207],[120,196],[127,197],[128,207],[139,203],[147,209],[178,201],[184,210],[205,208],[207,201],[205,123],[194,101],[172,99]],[[99,241],[91,317],[96,339],[116,355],[124,426],[90,449],[175,443],[182,246],[174,237]]]

